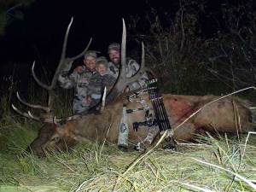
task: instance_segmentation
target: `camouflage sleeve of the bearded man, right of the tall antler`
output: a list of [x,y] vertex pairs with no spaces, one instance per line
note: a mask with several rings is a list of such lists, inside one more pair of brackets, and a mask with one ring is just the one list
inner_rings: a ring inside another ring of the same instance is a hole
[[[137,61],[132,59],[128,61],[128,66],[132,72],[132,75],[135,75],[140,67]],[[128,84],[129,90],[144,89],[147,80],[148,80],[147,73],[143,73],[143,75],[140,78],[138,78],[137,81],[132,82],[131,84]]]

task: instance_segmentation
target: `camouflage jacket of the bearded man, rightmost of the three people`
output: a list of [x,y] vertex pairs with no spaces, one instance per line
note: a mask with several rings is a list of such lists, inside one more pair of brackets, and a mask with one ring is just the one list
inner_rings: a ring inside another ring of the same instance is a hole
[[[137,61],[127,58],[127,65],[125,68],[125,74],[127,78],[131,78],[131,76],[135,75],[139,69],[139,64]],[[108,74],[112,75],[115,79],[119,76],[119,65],[113,64],[112,61],[108,62]],[[143,89],[145,87],[145,83],[148,80],[148,75],[146,73],[143,73],[143,75],[137,79],[137,81],[132,82],[131,84],[128,84],[128,87],[130,90],[139,90]]]

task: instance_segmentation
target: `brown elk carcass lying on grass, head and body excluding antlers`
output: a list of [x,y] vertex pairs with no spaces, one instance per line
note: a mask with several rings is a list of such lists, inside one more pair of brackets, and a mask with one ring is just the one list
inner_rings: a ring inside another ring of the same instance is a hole
[[[117,143],[118,129],[122,115],[122,106],[126,108],[141,108],[138,102],[127,102],[126,97],[110,103],[103,113],[91,113],[86,116],[68,121],[66,124],[57,126],[45,125],[39,137],[31,144],[32,150],[38,154],[44,154],[45,150],[66,150],[73,144],[90,139],[92,141],[107,140]],[[148,105],[148,96],[143,96]],[[163,101],[166,107],[168,119],[174,129],[173,138],[183,142],[192,140],[195,134],[209,132],[247,132],[253,130],[253,118],[255,115],[245,106],[246,101],[226,97],[217,102],[218,96],[175,96],[166,94]],[[207,103],[212,104],[203,108]],[[199,113],[195,113],[198,109]],[[191,114],[195,115],[187,119]],[[138,131],[132,129],[132,123],[141,122],[145,119],[143,111],[128,114],[129,141],[130,143],[142,142],[148,134],[148,127],[141,126]],[[183,123],[183,125],[180,125]],[[180,126],[178,126],[180,125]],[[159,133],[159,132],[158,132]],[[155,134],[155,137],[157,134]]]

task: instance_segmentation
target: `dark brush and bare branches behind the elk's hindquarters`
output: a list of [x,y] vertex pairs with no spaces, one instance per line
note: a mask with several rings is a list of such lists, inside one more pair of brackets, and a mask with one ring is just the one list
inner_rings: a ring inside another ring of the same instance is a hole
[[130,33],[146,44],[163,90],[221,94],[255,85],[255,2],[211,3],[180,0],[175,15],[151,9],[131,18]]

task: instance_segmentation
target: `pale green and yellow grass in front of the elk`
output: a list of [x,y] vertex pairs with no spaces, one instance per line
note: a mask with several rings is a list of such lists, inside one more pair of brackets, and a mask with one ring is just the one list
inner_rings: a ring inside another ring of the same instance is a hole
[[145,154],[84,142],[39,159],[25,148],[41,125],[13,113],[6,98],[0,119],[1,192],[256,190],[254,135],[246,145],[247,135],[198,137],[197,144],[178,145],[177,151],[151,148]]

